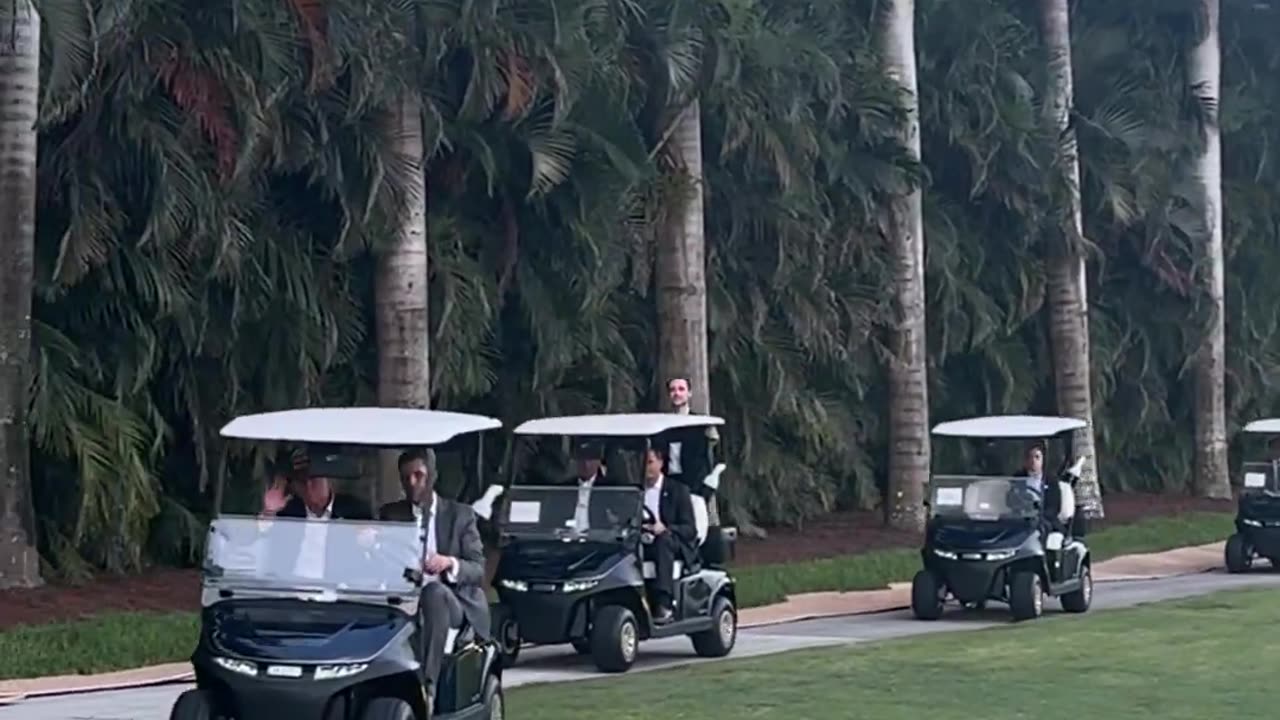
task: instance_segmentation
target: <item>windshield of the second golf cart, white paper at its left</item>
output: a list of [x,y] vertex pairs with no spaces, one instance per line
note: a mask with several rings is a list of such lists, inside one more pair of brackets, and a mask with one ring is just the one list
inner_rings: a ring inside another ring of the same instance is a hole
[[616,538],[628,527],[639,527],[640,488],[595,487],[582,492],[581,498],[579,495],[576,484],[512,487],[503,530],[524,538]]

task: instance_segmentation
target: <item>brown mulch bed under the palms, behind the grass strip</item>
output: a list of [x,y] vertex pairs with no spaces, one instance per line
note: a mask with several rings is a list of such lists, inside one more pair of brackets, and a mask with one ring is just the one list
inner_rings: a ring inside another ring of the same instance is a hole
[[[1230,501],[1178,496],[1108,495],[1106,520],[1117,525],[1158,515],[1189,511],[1231,511]],[[768,538],[741,538],[736,564],[792,562],[852,555],[891,547],[914,547],[919,537],[886,529],[876,512],[837,512],[803,528],[776,528]],[[77,620],[111,611],[195,610],[200,605],[200,573],[156,569],[138,575],[99,577],[81,585],[49,584],[31,591],[0,591],[0,630]]]

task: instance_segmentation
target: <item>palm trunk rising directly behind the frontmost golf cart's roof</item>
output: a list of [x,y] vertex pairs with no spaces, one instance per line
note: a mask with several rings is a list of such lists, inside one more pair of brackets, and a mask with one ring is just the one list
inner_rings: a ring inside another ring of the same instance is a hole
[[[407,188],[399,227],[378,256],[378,405],[430,407],[431,377],[428,315],[426,177],[422,102],[406,94],[394,113],[396,147],[406,167]],[[376,502],[401,497],[396,455],[384,452]]]

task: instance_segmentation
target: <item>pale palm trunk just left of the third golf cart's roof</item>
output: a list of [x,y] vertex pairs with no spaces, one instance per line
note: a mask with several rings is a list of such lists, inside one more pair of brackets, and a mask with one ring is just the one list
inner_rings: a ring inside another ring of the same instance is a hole
[[[900,141],[920,159],[915,78],[915,1],[887,0],[877,32],[884,72],[902,88],[906,120]],[[893,272],[893,327],[888,356],[888,524],[924,529],[929,482],[929,378],[924,323],[924,219],[920,188],[884,208],[883,232]]]

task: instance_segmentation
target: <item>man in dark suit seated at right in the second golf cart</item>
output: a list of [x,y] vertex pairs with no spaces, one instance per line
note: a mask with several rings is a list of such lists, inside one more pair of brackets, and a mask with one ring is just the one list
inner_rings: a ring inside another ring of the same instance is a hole
[[653,542],[645,546],[645,556],[653,559],[654,564],[653,587],[657,607],[653,619],[657,623],[671,620],[676,559],[689,565],[694,543],[698,541],[689,488],[684,483],[667,480],[662,473],[666,460],[660,448],[650,447],[645,451],[644,505],[654,520],[644,525],[644,529],[653,534]]

